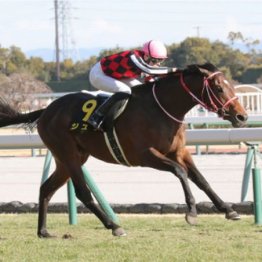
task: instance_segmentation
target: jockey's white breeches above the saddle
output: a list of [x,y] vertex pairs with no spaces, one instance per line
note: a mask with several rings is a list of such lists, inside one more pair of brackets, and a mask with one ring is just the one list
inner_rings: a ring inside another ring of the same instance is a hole
[[131,87],[140,85],[140,82],[136,78],[131,79],[121,79],[117,80],[113,77],[107,76],[100,65],[100,62],[96,63],[90,70],[89,74],[90,83],[99,90],[110,92],[110,93],[117,93],[117,92],[124,92],[131,94]]

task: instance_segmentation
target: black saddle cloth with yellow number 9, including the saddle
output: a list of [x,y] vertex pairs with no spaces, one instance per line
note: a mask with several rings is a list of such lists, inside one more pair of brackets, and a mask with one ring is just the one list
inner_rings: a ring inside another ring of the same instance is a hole
[[98,113],[97,110],[101,116],[101,126],[97,130],[111,130],[114,120],[124,111],[129,97],[129,94],[123,92],[111,95],[103,92],[82,91],[79,93],[79,108],[73,115],[70,130],[94,130],[95,128],[89,124],[89,120],[94,113]]

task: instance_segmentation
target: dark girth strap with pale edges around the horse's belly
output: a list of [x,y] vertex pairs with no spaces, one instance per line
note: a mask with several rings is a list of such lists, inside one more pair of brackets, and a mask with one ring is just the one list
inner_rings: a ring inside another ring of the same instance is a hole
[[126,159],[123,149],[119,143],[115,128],[113,127],[113,129],[104,132],[104,137],[106,145],[116,162],[125,166],[131,166]]

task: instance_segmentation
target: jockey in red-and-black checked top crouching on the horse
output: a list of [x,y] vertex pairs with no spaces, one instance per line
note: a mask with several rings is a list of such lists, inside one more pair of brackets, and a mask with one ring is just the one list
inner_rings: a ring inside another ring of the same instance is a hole
[[131,95],[131,87],[154,81],[154,76],[175,72],[176,68],[161,66],[166,58],[166,47],[158,40],[146,42],[141,50],[123,51],[102,58],[90,70],[89,80],[95,88],[114,94],[94,112],[88,123],[102,130],[107,113],[117,102],[123,104]]

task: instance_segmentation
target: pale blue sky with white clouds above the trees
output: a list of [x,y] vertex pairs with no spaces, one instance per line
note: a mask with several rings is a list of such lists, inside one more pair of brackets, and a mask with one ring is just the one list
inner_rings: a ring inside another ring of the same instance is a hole
[[[150,39],[170,45],[196,36],[229,43],[230,31],[262,42],[262,0],[59,0],[59,12],[64,49],[130,48]],[[0,0],[1,47],[54,49],[54,24],[54,0]]]

